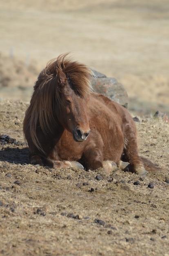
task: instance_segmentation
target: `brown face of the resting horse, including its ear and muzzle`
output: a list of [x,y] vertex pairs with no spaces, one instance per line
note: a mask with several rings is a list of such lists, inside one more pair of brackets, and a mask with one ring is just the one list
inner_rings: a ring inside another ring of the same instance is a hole
[[59,111],[57,111],[58,121],[72,133],[75,141],[85,141],[90,133],[87,117],[89,94],[81,95],[76,85],[73,84],[73,80],[67,77],[60,68],[56,69],[56,73],[60,98]]

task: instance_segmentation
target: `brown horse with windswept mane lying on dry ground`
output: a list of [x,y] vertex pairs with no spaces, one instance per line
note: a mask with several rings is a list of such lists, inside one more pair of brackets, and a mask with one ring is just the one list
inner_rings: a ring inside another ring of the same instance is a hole
[[106,173],[120,166],[147,174],[132,117],[118,103],[91,92],[91,76],[89,67],[67,54],[50,61],[39,74],[23,124],[31,163],[103,167]]

